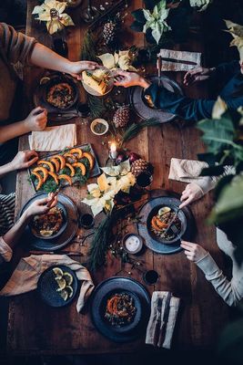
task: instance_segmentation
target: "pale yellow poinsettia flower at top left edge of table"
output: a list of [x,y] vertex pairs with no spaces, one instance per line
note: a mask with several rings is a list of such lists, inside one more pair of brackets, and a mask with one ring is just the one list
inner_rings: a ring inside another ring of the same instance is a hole
[[61,3],[56,0],[46,0],[44,4],[35,6],[32,14],[37,15],[36,19],[46,22],[46,28],[52,35],[65,26],[74,26],[74,22],[70,16],[63,13],[67,3]]

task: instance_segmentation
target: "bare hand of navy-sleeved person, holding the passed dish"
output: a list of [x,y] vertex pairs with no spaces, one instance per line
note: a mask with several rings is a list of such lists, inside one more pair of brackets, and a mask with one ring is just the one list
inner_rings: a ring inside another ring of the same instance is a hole
[[116,86],[123,86],[124,88],[129,88],[131,86],[140,86],[141,88],[147,89],[150,85],[145,78],[142,78],[136,72],[127,72],[122,70],[117,70],[114,73]]

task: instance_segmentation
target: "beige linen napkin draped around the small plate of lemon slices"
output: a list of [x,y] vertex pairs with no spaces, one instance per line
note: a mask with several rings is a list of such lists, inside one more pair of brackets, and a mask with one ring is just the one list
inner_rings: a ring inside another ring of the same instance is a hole
[[30,255],[20,260],[0,296],[10,297],[35,290],[41,274],[50,266],[68,266],[75,271],[78,280],[82,281],[76,310],[80,312],[94,289],[94,284],[85,266],[72,260],[67,255]]

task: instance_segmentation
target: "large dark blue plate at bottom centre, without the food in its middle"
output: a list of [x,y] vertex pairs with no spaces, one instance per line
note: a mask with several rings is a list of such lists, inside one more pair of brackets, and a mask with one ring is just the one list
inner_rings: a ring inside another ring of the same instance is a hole
[[[126,326],[127,328],[113,327],[104,318],[106,299],[112,293],[119,292],[132,293],[137,306],[137,316],[133,323]],[[110,277],[99,284],[93,292],[90,313],[96,329],[107,339],[115,342],[133,341],[146,333],[150,314],[150,297],[147,289],[138,281],[129,277]]]

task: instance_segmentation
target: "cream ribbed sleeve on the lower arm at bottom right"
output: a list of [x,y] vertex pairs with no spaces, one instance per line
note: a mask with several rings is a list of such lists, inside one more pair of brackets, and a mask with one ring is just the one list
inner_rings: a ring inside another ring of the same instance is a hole
[[207,280],[228,306],[238,305],[243,297],[243,273],[240,277],[232,277],[228,280],[209,253],[198,260],[196,265],[204,272]]

